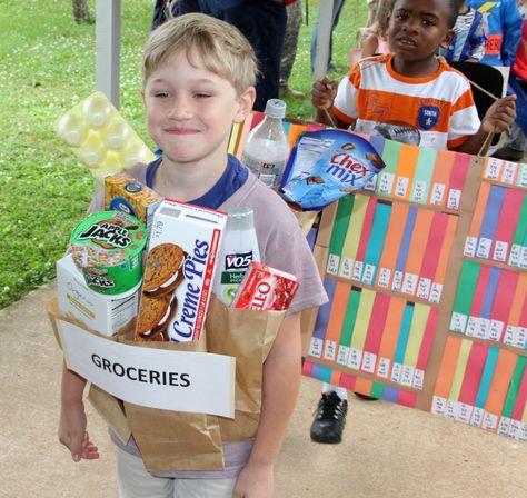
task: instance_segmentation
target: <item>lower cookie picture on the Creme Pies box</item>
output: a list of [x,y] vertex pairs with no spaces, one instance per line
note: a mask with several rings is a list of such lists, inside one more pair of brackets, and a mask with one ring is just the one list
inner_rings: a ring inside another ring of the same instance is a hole
[[152,298],[142,295],[135,340],[168,341],[167,327],[176,313],[178,300],[173,295]]

